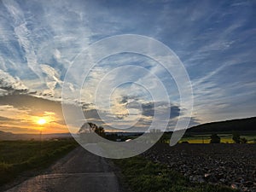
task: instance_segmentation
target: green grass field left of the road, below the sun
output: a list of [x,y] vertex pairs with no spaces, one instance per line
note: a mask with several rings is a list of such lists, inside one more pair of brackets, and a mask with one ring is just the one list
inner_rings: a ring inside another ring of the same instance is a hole
[[49,166],[76,146],[71,139],[0,142],[0,186],[10,182],[21,172]]

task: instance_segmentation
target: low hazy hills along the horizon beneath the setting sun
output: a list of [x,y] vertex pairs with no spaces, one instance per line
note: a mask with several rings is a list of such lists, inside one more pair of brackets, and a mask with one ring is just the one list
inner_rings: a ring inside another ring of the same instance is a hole
[[[72,137],[70,133],[54,133],[54,134],[42,134],[42,139],[52,139],[52,138],[64,138]],[[0,131],[0,141],[7,140],[40,140],[39,134],[14,134],[11,132]]]

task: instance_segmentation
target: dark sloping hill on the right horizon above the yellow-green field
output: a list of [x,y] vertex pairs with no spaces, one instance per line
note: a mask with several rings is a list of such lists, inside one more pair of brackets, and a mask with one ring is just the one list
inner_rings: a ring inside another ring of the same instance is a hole
[[256,131],[256,117],[247,119],[232,119],[196,125],[187,132],[224,132],[224,131]]

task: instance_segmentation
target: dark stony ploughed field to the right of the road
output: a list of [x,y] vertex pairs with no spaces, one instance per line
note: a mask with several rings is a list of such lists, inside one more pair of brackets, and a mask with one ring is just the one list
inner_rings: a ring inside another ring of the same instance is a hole
[[158,143],[143,154],[189,177],[191,182],[219,183],[256,192],[256,144]]

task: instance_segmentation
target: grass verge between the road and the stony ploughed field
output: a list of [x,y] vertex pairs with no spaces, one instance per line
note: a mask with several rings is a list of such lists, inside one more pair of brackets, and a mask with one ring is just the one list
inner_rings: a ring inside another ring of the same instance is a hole
[[125,182],[134,192],[234,192],[224,186],[190,183],[167,166],[153,163],[143,157],[113,160],[125,176]]

